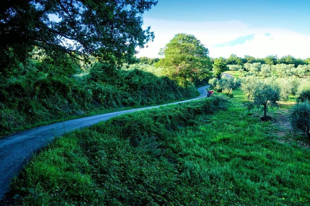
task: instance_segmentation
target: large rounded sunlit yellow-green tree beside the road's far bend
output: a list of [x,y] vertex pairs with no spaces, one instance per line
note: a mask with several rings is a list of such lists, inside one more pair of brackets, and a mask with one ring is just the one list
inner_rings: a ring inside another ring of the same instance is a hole
[[193,35],[176,34],[165,48],[161,49],[160,54],[165,57],[155,66],[163,67],[165,74],[178,80],[181,85],[210,76],[209,50]]

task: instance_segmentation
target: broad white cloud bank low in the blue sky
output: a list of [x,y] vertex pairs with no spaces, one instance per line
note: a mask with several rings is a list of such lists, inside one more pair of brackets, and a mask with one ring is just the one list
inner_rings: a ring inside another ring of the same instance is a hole
[[[158,52],[177,33],[193,34],[209,48],[211,57],[229,57],[232,53],[243,57],[266,57],[268,55],[293,55],[297,58],[310,57],[310,36],[279,28],[251,28],[240,21],[177,22],[158,19],[144,19],[145,27],[151,26],[155,33],[153,42],[140,49],[138,57],[159,57]],[[265,34],[269,33],[270,36]],[[227,47],[213,47],[240,36],[254,34],[244,44]]]

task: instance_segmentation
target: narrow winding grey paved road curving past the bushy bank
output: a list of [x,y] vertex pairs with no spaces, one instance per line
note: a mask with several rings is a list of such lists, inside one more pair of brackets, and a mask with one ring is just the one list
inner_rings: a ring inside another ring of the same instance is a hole
[[32,157],[33,153],[47,145],[55,136],[91,126],[114,116],[201,99],[206,97],[206,88],[208,87],[209,85],[198,88],[200,96],[194,99],[68,120],[18,132],[0,139],[0,199],[8,190],[10,180],[22,169],[23,165]]

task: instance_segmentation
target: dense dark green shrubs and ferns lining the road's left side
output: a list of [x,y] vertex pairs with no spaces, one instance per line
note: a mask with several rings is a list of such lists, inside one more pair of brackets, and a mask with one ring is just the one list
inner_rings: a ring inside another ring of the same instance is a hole
[[95,63],[88,74],[75,77],[71,69],[61,74],[51,73],[54,71],[51,67],[55,66],[45,64],[38,64],[39,69],[31,67],[29,71],[23,67],[24,75],[4,77],[0,74],[3,80],[0,82],[1,133],[71,115],[197,95],[194,86],[180,87],[169,78],[139,70],[139,65],[120,70]]

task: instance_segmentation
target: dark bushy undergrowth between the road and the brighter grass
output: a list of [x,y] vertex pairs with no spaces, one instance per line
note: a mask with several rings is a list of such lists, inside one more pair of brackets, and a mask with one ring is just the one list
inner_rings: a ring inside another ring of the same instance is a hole
[[182,146],[172,134],[192,126],[197,115],[224,109],[225,102],[214,96],[119,116],[71,132],[49,145],[26,166],[20,179],[14,179],[15,204],[180,205],[202,201],[197,197],[204,191],[195,185],[209,186],[210,179],[180,161]]

